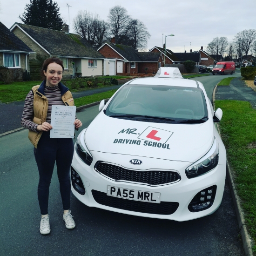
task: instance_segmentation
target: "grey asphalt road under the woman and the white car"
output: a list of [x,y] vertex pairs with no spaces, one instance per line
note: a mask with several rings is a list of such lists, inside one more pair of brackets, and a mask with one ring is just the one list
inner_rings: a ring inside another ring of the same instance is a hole
[[[211,94],[227,76],[198,77]],[[208,88],[211,87],[211,88]],[[210,95],[209,95],[210,96]],[[86,128],[98,106],[77,116]],[[81,132],[81,130],[80,130]],[[78,133],[77,133],[78,135]],[[0,256],[243,256],[229,187],[212,215],[188,222],[89,208],[71,195],[74,230],[65,228],[56,170],[50,186],[51,233],[39,232],[38,171],[27,130],[0,137]]]

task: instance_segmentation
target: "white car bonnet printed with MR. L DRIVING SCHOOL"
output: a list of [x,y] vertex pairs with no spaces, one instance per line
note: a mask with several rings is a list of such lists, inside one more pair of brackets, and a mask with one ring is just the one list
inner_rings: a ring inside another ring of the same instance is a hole
[[113,118],[101,112],[85,133],[92,152],[195,162],[214,140],[211,120],[201,124],[165,124]]

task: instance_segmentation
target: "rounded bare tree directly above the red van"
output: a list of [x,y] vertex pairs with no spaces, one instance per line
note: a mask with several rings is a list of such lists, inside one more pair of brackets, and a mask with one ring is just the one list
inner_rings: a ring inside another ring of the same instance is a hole
[[229,45],[229,41],[226,37],[216,37],[207,46],[207,50],[210,54],[214,55],[216,61],[220,61],[221,56],[226,51]]

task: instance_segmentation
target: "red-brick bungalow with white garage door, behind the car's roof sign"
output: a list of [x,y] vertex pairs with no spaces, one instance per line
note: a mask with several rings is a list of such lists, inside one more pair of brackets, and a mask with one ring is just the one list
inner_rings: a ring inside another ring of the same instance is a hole
[[156,73],[163,66],[163,57],[158,53],[139,53],[131,46],[115,44],[115,38],[111,42],[104,43],[98,52],[105,58],[104,75]]

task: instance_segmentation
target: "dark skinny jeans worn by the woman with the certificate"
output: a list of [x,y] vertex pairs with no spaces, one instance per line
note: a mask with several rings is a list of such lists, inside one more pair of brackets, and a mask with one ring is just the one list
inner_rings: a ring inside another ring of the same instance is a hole
[[73,139],[50,138],[50,132],[43,132],[37,148],[34,148],[35,161],[39,171],[37,192],[41,215],[48,214],[49,186],[55,161],[63,209],[68,210],[70,208],[70,166],[73,154]]

